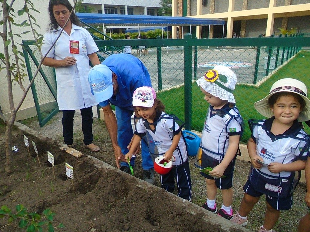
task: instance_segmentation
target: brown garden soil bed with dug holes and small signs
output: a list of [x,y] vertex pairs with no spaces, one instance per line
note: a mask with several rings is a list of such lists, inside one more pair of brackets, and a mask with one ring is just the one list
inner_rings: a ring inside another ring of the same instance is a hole
[[[18,148],[13,154],[15,170],[6,174],[3,127],[1,130],[0,204],[13,212],[17,204],[40,214],[50,208],[55,213],[53,225],[65,226],[56,231],[249,231],[94,157],[73,157],[61,151],[54,140],[29,134],[31,130],[14,130],[13,145]],[[31,144],[30,156],[23,134]],[[31,140],[36,143],[42,167]],[[55,180],[47,151],[55,157]],[[73,166],[74,190],[65,174],[65,162]],[[18,222],[7,224],[6,217],[0,219],[1,232],[23,231]]]

